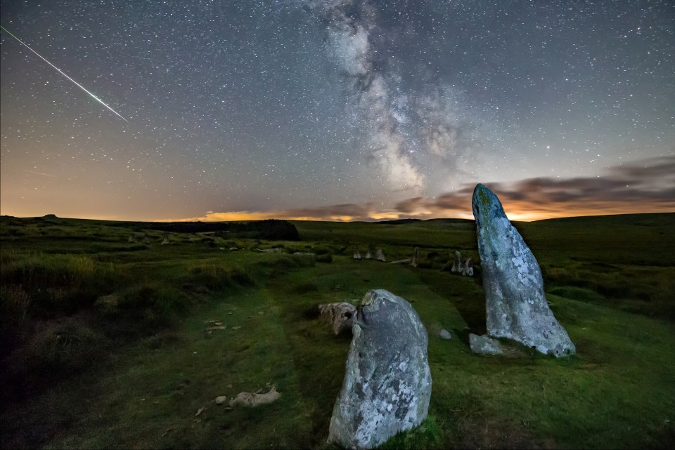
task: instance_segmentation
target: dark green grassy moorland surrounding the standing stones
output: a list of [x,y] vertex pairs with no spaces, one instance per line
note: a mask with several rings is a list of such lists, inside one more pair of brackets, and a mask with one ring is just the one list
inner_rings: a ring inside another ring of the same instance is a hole
[[[675,214],[515,223],[567,359],[470,352],[480,276],[443,269],[456,250],[478,260],[473,222],[294,225],[300,241],[161,245],[140,223],[0,218],[2,448],[333,448],[350,336],[317,305],[379,288],[420,315],[433,380],[427,420],[383,448],[675,446]],[[420,267],[352,259],[369,245],[387,261],[418,247]],[[271,385],[271,404],[214,403]]]

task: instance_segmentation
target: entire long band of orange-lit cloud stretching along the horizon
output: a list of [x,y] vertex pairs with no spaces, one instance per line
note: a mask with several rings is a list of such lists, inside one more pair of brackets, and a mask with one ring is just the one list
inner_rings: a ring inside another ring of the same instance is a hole
[[[512,220],[675,212],[675,157],[644,159],[608,168],[605,176],[527,178],[484,183],[497,194]],[[209,211],[179,220],[384,220],[397,218],[473,218],[475,183],[434,198],[411,197],[387,208],[381,204],[338,204],[280,211]]]

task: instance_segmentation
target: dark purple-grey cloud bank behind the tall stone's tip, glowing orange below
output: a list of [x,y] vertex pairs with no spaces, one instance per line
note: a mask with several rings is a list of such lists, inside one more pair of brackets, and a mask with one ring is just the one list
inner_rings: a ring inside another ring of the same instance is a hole
[[[605,176],[528,178],[514,183],[484,183],[511,218],[586,216],[675,211],[675,157],[644,159],[610,167]],[[467,216],[475,184],[433,199],[400,201],[396,211],[411,216]]]

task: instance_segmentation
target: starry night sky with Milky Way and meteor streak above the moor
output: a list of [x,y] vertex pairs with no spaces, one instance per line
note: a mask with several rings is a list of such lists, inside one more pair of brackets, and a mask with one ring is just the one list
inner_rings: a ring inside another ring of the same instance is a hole
[[2,214],[675,211],[671,0],[0,3]]

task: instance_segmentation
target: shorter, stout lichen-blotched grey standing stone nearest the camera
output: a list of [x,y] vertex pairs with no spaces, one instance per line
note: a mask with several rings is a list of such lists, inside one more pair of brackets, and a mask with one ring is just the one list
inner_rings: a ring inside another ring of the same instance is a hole
[[371,449],[426,418],[428,335],[410,303],[384,289],[366,293],[352,333],[328,442]]

